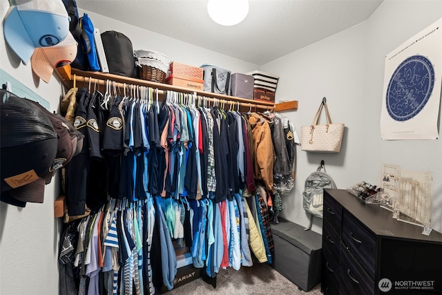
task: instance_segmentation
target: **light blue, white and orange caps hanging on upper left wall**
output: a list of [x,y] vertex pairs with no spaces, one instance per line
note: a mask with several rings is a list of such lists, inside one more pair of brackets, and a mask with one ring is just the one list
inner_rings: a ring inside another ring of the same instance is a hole
[[69,17],[62,1],[21,1],[3,24],[6,42],[15,54],[48,83],[54,68],[77,56],[77,41],[69,32]]

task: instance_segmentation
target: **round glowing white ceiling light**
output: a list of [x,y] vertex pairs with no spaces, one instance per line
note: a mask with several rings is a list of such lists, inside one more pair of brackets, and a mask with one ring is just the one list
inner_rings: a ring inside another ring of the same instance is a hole
[[222,26],[234,26],[247,17],[248,0],[209,0],[207,12],[215,23]]

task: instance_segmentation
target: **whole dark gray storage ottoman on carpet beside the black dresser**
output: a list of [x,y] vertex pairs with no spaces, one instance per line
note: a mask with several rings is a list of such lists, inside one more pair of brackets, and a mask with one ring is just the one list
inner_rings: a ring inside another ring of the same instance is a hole
[[271,224],[273,268],[305,292],[320,283],[322,236],[279,218]]

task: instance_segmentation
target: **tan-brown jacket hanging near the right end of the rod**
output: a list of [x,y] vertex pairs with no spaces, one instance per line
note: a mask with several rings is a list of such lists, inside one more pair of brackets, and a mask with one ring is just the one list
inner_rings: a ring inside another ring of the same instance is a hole
[[273,193],[273,142],[269,122],[256,113],[251,113],[249,122],[255,144],[255,178],[263,180],[267,189]]

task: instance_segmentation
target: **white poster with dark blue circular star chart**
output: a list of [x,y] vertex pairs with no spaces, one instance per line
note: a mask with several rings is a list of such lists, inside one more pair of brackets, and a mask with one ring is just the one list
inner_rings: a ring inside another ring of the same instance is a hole
[[442,80],[442,19],[385,57],[381,139],[436,140]]

